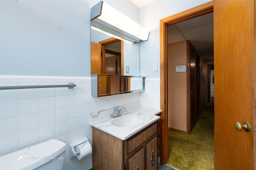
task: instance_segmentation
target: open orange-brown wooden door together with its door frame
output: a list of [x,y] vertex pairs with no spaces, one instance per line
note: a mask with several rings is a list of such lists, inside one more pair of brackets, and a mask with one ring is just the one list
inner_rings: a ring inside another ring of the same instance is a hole
[[[254,1],[210,1],[160,20],[160,108],[163,110],[160,118],[160,162],[164,164],[168,159],[167,26],[181,22],[184,18],[213,12],[213,7],[214,168],[252,170],[255,165],[254,130],[246,131],[234,125],[246,121],[254,127],[256,120]],[[246,155],[246,159],[241,159],[240,155]]]

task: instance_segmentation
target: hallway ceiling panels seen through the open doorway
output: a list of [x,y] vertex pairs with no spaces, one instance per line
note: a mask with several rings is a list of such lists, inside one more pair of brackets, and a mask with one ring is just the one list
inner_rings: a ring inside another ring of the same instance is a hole
[[213,13],[168,26],[168,43],[186,40],[206,63],[213,63]]

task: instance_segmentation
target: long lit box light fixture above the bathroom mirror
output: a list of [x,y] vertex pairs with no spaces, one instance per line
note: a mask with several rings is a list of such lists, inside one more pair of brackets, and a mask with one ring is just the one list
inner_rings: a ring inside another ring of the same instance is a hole
[[148,40],[149,32],[103,1],[91,8],[91,28],[120,40],[137,43]]

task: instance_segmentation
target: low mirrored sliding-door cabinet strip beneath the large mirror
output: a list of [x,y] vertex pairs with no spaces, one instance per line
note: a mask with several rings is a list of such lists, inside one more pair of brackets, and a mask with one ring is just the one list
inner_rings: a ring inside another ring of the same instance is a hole
[[145,90],[145,77],[94,74],[92,97],[119,95]]

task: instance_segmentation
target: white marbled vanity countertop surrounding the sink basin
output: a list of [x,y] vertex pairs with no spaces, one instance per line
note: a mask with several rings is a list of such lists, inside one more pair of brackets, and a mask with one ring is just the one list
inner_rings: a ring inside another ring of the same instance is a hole
[[139,123],[136,125],[130,125],[126,127],[117,127],[112,125],[112,121],[118,119],[119,117],[104,118],[98,121],[91,122],[90,125],[104,132],[107,132],[113,136],[116,136],[117,138],[126,140],[130,136],[134,135],[135,133],[150,125],[151,123],[160,119],[160,116],[156,116],[159,113],[162,113],[162,110],[140,107],[140,109],[132,113],[122,114],[123,117],[125,115],[135,115],[136,117],[138,117]]

